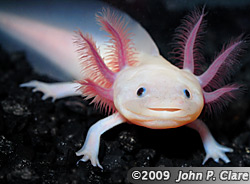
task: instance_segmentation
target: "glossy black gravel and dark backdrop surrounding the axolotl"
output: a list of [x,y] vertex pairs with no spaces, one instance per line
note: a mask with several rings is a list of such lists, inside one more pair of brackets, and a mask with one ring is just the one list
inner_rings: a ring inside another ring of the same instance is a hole
[[[131,6],[113,4],[122,9]],[[128,13],[149,31],[161,53],[168,57],[171,35],[187,11],[167,12],[158,4],[134,7],[133,11],[127,9]],[[250,25],[246,24],[250,22],[249,8],[208,7],[204,51],[208,63],[225,41],[242,31],[250,33]],[[39,92],[20,88],[19,84],[34,79],[54,81],[34,73],[25,53],[7,53],[3,48],[0,48],[0,183],[127,183],[127,171],[135,166],[202,166],[205,151],[197,132],[186,127],[151,130],[132,124],[119,125],[101,137],[99,159],[104,170],[90,162],[77,164],[80,157],[75,152],[84,143],[89,127],[104,115],[81,97],[52,103],[51,99],[41,100]],[[234,78],[248,87],[249,50]],[[250,95],[245,93],[219,117],[205,117],[218,142],[234,149],[227,154],[230,163],[209,160],[205,166],[250,166],[249,102]]]

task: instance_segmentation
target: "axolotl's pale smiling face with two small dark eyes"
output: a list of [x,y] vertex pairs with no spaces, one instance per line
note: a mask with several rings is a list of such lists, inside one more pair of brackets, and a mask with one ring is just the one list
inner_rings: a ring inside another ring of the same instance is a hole
[[116,109],[131,123],[153,129],[196,120],[204,106],[197,78],[161,56],[138,59],[143,62],[118,73],[113,86]]

